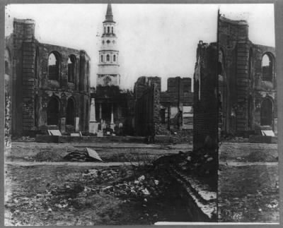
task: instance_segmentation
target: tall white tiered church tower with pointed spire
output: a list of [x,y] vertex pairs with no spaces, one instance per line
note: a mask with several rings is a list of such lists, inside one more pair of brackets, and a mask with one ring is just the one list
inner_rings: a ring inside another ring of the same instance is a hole
[[103,21],[103,35],[99,51],[97,86],[120,86],[119,51],[115,35],[115,21],[113,20],[111,4],[107,6]]

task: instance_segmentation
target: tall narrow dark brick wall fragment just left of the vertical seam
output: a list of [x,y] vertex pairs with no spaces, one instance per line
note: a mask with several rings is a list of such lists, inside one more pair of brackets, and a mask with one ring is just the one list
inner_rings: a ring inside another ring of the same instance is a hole
[[197,63],[194,74],[193,147],[217,147],[218,97],[216,80],[216,44],[197,46]]

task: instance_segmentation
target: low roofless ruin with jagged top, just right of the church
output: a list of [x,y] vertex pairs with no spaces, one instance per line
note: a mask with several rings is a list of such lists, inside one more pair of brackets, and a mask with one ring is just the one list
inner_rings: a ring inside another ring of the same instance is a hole
[[192,130],[191,78],[168,78],[161,92],[161,78],[139,77],[134,84],[134,128],[137,135],[167,135]]

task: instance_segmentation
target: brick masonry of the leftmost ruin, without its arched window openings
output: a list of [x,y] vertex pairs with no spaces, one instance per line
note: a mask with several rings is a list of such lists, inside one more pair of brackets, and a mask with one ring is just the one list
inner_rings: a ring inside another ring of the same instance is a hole
[[[89,61],[84,51],[41,44],[35,40],[33,20],[15,19],[13,36],[7,43],[13,51],[12,124],[14,134],[28,134],[48,128],[67,130],[65,124],[67,101],[74,99],[79,131],[88,130],[89,119]],[[56,52],[59,58],[58,80],[48,78],[48,58]],[[68,59],[74,55],[74,81],[68,81]],[[47,103],[51,97],[59,100],[59,124],[47,126]],[[75,126],[71,131],[75,131]]]

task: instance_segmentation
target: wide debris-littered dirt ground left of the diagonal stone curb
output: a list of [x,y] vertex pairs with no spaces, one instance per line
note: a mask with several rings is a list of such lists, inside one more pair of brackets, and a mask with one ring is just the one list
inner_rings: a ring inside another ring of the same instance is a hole
[[[108,162],[101,163],[103,167],[88,167],[59,162],[67,145],[48,145],[50,156],[52,150],[60,156],[57,162],[40,165],[33,165],[33,161],[46,145],[14,145],[6,154],[6,225],[126,225],[190,220],[166,170],[154,169],[149,162],[174,154],[177,149],[100,148],[100,157]],[[134,156],[139,157],[132,164],[130,158]],[[109,162],[117,160],[119,166]],[[123,165],[126,161],[131,162]]]

